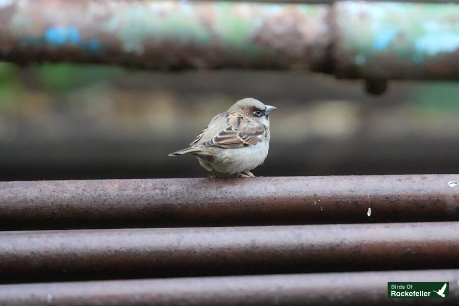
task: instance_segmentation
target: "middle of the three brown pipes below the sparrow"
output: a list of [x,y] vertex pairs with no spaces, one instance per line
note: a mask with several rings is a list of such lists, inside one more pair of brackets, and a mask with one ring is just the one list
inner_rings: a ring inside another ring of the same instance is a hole
[[0,281],[459,268],[459,222],[0,233]]

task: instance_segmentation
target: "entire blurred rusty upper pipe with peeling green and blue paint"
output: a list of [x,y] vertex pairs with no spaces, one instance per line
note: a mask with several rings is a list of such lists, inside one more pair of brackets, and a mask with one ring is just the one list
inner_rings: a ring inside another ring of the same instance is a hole
[[458,15],[453,3],[11,0],[0,59],[459,80]]

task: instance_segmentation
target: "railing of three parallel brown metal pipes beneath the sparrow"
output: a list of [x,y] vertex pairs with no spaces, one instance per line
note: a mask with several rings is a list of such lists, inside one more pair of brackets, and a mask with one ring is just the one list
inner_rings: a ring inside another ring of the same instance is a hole
[[387,282],[438,281],[455,305],[458,181],[1,182],[0,304],[386,304]]

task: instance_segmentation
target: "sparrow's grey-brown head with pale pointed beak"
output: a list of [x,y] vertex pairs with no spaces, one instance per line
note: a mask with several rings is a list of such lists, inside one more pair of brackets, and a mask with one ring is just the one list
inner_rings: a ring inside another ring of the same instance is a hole
[[254,121],[269,126],[269,114],[276,108],[264,105],[254,98],[245,98],[237,101],[228,111],[236,112]]

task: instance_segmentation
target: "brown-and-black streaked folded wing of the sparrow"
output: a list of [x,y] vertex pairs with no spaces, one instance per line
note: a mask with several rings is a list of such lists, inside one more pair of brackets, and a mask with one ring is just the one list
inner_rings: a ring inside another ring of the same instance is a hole
[[242,148],[256,144],[266,135],[266,127],[264,125],[237,113],[226,113],[225,118],[226,127],[216,136],[202,142],[202,146],[227,149]]

